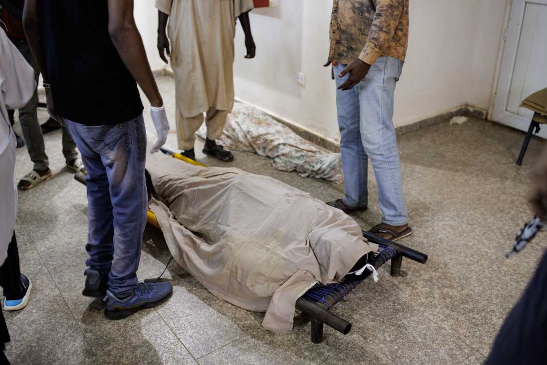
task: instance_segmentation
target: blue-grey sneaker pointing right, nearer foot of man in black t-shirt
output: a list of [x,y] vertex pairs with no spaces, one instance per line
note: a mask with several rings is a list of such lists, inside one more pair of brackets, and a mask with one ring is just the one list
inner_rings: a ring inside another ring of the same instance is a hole
[[110,320],[121,320],[136,311],[153,308],[165,302],[172,293],[173,286],[170,282],[139,283],[129,297],[123,299],[107,290],[106,297],[103,299],[106,302],[104,315]]

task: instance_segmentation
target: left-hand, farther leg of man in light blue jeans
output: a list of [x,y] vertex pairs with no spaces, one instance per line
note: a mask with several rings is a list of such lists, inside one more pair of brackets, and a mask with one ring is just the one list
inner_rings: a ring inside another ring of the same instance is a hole
[[[345,65],[335,67],[336,88],[350,76],[340,78],[339,73]],[[336,89],[336,110],[340,128],[340,153],[344,171],[345,196],[342,200],[349,207],[368,205],[367,169],[368,158],[360,137],[359,94],[357,87],[342,91]]]

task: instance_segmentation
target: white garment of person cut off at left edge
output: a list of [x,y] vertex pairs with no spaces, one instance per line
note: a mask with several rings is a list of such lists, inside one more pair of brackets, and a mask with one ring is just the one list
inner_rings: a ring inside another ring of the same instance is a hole
[[0,30],[0,265],[7,256],[17,214],[16,142],[8,109],[25,106],[35,89],[34,70]]

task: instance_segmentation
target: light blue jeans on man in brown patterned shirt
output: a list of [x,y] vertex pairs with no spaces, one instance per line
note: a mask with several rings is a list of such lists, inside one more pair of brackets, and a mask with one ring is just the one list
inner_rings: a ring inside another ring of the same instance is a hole
[[[334,69],[336,87],[350,76],[338,77],[345,67],[339,63]],[[395,57],[382,56],[353,89],[336,90],[342,170],[346,185],[344,202],[352,207],[368,205],[367,170],[370,158],[376,175],[382,222],[392,225],[408,223],[393,125],[393,92],[402,69],[403,62]]]

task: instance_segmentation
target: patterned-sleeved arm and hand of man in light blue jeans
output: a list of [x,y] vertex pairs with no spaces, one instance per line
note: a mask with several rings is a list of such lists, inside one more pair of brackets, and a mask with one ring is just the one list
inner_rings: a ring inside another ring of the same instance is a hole
[[370,66],[391,42],[404,6],[405,0],[378,0],[365,47],[359,57],[340,72],[340,77],[347,73],[350,73],[350,77],[338,89],[350,90],[365,78]]

